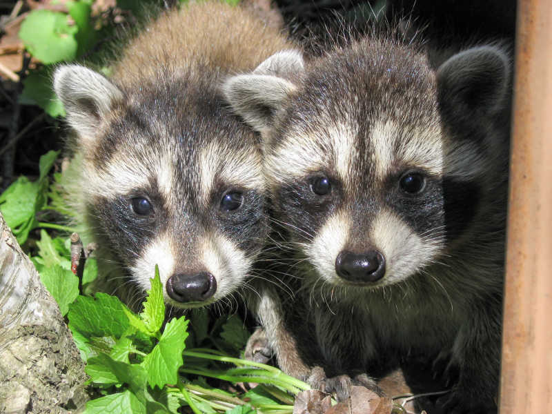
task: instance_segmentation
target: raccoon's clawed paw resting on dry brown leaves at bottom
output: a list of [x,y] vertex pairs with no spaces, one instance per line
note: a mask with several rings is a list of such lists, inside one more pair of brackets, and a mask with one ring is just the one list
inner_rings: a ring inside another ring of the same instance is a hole
[[384,395],[375,380],[366,374],[359,374],[353,378],[348,375],[336,375],[335,377],[327,378],[324,368],[320,366],[315,366],[311,370],[311,374],[306,379],[306,382],[315,389],[335,395],[338,402],[348,399],[353,385],[364,386],[379,396]]

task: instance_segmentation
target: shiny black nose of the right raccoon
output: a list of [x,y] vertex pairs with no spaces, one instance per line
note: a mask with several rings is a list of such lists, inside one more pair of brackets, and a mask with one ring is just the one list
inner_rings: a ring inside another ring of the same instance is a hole
[[342,251],[335,259],[335,271],[350,282],[375,282],[385,274],[385,257],[376,250],[361,255]]

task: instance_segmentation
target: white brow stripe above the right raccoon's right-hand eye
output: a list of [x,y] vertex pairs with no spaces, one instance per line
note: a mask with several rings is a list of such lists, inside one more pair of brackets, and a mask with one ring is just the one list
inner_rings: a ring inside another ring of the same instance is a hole
[[377,179],[385,179],[395,164],[417,166],[435,175],[442,173],[443,143],[437,127],[405,128],[390,120],[378,120],[371,128],[370,144]]

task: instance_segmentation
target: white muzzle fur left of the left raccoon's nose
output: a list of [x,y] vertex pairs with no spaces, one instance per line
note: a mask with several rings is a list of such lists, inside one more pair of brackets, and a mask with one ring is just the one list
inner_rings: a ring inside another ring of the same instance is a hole
[[[144,254],[130,268],[132,277],[145,290],[150,289],[150,279],[155,276],[155,265],[159,266],[161,284],[165,286],[167,279],[175,271],[175,250],[172,241],[167,235],[157,237],[144,249]],[[170,302],[165,289],[163,289],[165,302]]]

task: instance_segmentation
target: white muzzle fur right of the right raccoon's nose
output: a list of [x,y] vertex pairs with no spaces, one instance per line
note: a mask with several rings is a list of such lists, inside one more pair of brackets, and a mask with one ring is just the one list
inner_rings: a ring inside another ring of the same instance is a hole
[[440,244],[418,236],[400,217],[383,208],[371,225],[370,238],[385,257],[386,271],[379,284],[393,284],[413,275],[435,259]]

